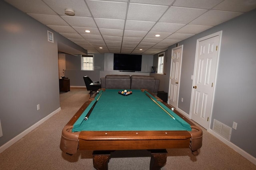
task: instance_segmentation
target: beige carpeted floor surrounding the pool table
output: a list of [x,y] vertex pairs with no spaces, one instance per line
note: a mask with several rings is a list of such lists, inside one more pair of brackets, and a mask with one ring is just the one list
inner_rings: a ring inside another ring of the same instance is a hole
[[[70,156],[59,149],[64,125],[90,97],[84,88],[60,94],[61,111],[0,154],[0,170],[94,170],[92,151]],[[203,128],[202,128],[203,129]],[[256,170],[256,165],[203,129],[203,146],[198,156],[189,149],[168,149],[162,170]],[[109,170],[148,170],[150,152],[116,151]]]

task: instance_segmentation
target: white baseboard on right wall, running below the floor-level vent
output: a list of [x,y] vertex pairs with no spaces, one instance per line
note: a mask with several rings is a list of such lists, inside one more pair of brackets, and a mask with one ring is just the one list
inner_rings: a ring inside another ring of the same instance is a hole
[[256,158],[254,158],[252,155],[248,154],[238,146],[234,145],[230,141],[224,139],[222,136],[220,136],[218,133],[214,132],[212,129],[208,129],[208,132],[212,135],[214,135],[216,138],[220,139],[223,143],[228,145],[230,148],[234,149],[236,152],[238,152],[240,155],[244,156],[244,158],[248,159],[250,162],[256,165]]

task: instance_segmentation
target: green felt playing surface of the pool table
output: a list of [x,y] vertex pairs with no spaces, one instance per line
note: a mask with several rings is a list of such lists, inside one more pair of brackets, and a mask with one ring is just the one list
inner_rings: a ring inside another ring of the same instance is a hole
[[[132,94],[123,96],[118,89],[100,90],[95,100],[74,123],[76,131],[191,131],[190,125],[171,109],[157,101],[168,113],[155,104],[147,91],[128,90]],[[150,95],[155,101],[152,95]],[[99,98],[99,99],[98,99]],[[98,99],[88,120],[84,117]]]

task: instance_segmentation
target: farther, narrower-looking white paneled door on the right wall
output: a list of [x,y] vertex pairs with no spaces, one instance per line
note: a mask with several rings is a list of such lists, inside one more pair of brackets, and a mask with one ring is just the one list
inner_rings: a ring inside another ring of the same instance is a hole
[[182,49],[183,45],[172,49],[168,104],[172,105],[175,108],[177,108],[178,106]]

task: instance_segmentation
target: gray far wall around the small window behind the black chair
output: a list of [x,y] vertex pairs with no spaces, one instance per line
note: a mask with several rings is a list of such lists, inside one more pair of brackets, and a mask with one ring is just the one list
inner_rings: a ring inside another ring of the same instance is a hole
[[85,86],[83,76],[100,81],[100,71],[104,70],[104,54],[94,54],[94,71],[81,70],[81,57],[68,54],[65,57],[65,76],[70,79],[70,86]]

